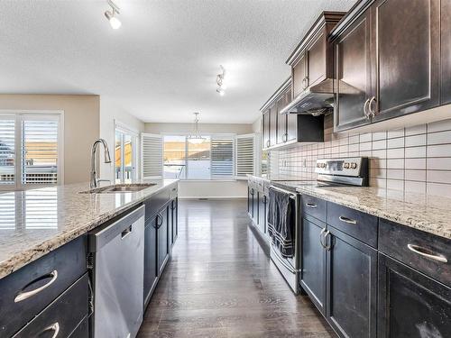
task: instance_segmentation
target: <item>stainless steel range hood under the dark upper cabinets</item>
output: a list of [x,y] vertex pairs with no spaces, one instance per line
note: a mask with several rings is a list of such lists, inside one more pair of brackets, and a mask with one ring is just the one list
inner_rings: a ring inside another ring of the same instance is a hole
[[289,105],[281,109],[281,114],[320,115],[332,109],[334,109],[334,79],[326,78],[296,96]]

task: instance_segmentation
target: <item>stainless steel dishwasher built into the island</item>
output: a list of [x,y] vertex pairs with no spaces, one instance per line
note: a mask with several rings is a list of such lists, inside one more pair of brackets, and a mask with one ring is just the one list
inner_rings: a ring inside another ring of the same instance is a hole
[[89,233],[94,285],[91,333],[133,338],[143,323],[144,206]]

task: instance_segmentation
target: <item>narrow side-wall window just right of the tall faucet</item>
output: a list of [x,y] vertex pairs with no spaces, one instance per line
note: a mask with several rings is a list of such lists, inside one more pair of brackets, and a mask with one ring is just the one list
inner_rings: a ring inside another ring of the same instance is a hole
[[132,183],[136,175],[137,133],[116,124],[115,127],[115,183]]

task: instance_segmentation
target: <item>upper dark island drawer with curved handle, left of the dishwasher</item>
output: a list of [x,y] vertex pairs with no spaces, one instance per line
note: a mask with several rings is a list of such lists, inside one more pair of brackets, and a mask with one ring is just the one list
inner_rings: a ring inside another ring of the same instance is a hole
[[79,279],[86,255],[82,236],[0,279],[0,336],[16,333]]

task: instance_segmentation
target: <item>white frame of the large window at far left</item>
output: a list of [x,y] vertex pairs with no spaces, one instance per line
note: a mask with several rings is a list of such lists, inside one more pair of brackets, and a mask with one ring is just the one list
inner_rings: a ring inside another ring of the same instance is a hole
[[1,185],[0,190],[26,190],[37,187],[54,187],[54,184],[23,184],[22,183],[22,121],[23,116],[32,119],[48,119],[55,116],[58,119],[58,160],[57,186],[64,184],[64,111],[63,110],[5,110],[0,109],[0,117],[14,118],[14,184]]

